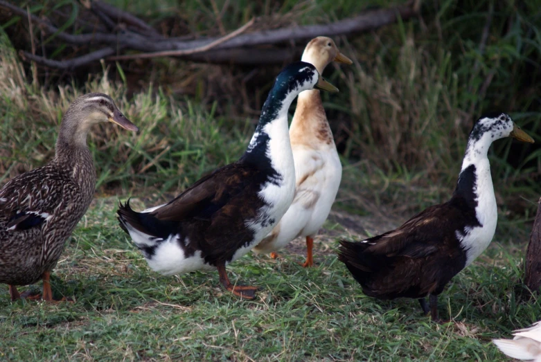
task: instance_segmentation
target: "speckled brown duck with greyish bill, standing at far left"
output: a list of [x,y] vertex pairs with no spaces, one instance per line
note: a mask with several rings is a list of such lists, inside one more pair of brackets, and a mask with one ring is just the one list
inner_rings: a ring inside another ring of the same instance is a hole
[[[53,159],[0,190],[0,283],[8,284],[12,301],[21,296],[55,301],[51,271],[94,196],[96,170],[87,134],[101,122],[138,130],[106,94],[80,96],[62,117]],[[43,293],[17,290],[40,279]]]

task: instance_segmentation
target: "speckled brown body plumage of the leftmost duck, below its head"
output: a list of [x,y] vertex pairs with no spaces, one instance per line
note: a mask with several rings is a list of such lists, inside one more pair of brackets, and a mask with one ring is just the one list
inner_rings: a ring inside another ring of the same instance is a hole
[[[94,163],[87,149],[73,150],[67,159],[55,158],[21,174],[0,190],[0,198],[6,199],[0,202],[0,282],[33,284],[54,268],[64,241],[92,200],[95,184]],[[7,230],[17,213],[33,210],[51,218],[41,227]]]

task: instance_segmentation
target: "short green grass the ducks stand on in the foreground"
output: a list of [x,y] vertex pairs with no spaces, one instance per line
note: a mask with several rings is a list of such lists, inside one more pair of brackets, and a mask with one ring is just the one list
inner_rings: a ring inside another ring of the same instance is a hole
[[328,237],[317,242],[314,269],[287,251],[229,266],[233,282],[260,287],[254,301],[224,291],[214,271],[157,275],[116,224],[115,204],[96,199],[55,269],[55,295],[75,303],[12,303],[0,287],[1,359],[504,361],[491,338],[539,315],[538,300],[515,295],[521,253],[510,254],[501,235],[441,295],[440,314],[452,322],[438,325],[416,300],[364,296]]

